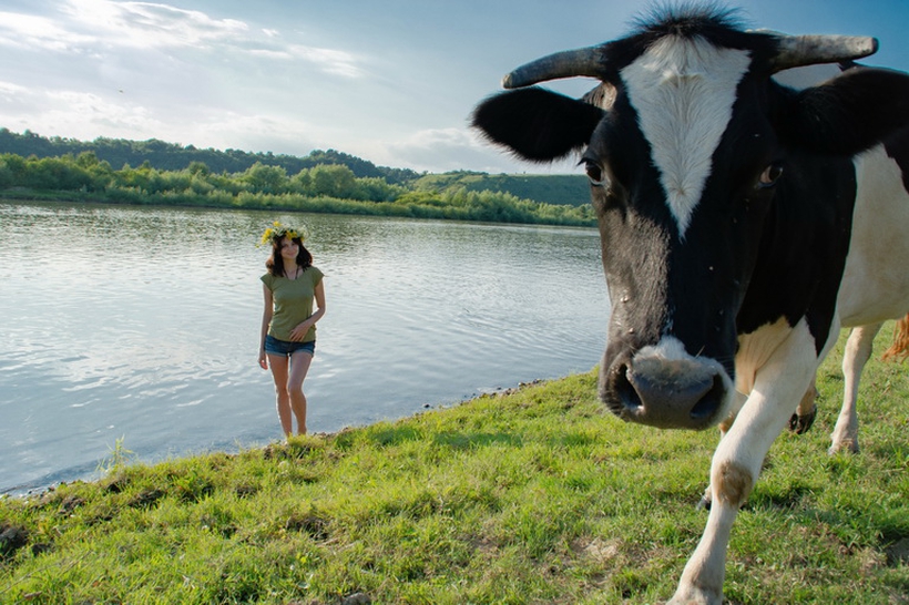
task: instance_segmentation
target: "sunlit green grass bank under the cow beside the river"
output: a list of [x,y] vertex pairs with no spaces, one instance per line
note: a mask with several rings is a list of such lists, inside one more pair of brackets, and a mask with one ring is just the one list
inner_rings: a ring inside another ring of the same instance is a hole
[[[738,517],[729,603],[909,603],[909,377],[869,363],[862,451],[830,458],[841,343]],[[0,500],[0,602],[656,603],[716,439],[622,423],[590,372],[238,454],[118,443],[100,481]]]

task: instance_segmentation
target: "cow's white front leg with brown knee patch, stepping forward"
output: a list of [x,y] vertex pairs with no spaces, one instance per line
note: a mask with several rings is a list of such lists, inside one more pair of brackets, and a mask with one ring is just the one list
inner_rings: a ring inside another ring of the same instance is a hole
[[804,321],[768,356],[754,388],[719,442],[711,464],[712,505],[704,534],[685,565],[671,605],[723,602],[726,548],[733,523],[817,369],[814,339]]

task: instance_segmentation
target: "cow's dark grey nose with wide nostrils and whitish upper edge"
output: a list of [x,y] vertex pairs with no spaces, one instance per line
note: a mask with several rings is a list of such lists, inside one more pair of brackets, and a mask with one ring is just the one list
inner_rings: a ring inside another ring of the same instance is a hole
[[692,361],[630,361],[613,375],[619,416],[664,429],[705,429],[715,424],[726,396],[714,366]]

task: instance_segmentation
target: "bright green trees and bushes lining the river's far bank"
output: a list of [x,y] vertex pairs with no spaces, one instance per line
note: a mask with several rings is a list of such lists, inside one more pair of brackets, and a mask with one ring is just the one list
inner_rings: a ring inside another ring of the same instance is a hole
[[92,151],[57,157],[0,154],[0,195],[150,205],[280,208],[452,218],[504,223],[592,226],[589,205],[569,206],[518,198],[507,192],[445,191],[357,176],[346,165],[317,164],[296,173],[255,162],[238,172],[215,172],[194,161],[181,170],[160,170],[149,160],[113,168]]

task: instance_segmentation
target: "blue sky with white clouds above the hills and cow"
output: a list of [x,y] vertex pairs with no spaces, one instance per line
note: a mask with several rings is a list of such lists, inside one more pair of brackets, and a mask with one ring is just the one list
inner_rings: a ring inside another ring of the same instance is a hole
[[[875,35],[909,71],[909,0],[732,0],[749,28]],[[469,129],[501,78],[624,35],[641,0],[0,0],[0,127],[441,173],[533,165]],[[580,96],[590,80],[547,84]]]

